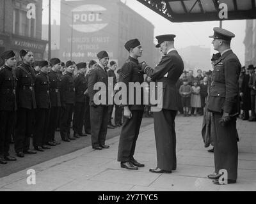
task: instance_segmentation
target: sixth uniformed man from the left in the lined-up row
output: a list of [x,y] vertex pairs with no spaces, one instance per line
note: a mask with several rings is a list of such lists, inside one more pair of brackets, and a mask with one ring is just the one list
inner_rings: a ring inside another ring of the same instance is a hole
[[74,137],[79,138],[80,136],[87,136],[83,133],[83,123],[84,123],[84,112],[85,112],[85,103],[86,96],[85,91],[87,89],[86,84],[86,63],[80,62],[77,64],[78,74],[74,80],[76,87],[76,103],[74,110],[74,121],[73,121],[73,130]]

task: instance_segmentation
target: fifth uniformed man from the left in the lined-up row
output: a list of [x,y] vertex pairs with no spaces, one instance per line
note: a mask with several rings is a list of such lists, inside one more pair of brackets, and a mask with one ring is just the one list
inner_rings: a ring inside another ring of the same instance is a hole
[[70,126],[75,103],[75,83],[74,83],[74,63],[67,61],[66,73],[61,78],[61,118],[60,118],[60,135],[64,142],[76,140],[70,135]]

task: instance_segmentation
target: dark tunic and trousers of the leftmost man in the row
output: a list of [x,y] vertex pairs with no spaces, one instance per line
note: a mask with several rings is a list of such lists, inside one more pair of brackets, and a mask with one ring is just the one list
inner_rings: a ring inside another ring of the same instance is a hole
[[12,68],[0,68],[0,156],[9,156],[13,121],[15,121],[17,79]]

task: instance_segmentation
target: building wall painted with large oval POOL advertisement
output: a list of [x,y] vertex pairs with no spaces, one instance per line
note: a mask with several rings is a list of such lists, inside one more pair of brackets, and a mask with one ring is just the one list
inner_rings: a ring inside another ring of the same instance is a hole
[[113,0],[61,0],[61,60],[90,61],[100,50],[117,60],[117,12]]

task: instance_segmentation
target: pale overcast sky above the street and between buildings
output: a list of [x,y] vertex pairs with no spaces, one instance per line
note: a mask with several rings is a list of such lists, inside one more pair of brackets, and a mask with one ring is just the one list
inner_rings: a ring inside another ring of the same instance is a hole
[[[216,52],[212,49],[212,40],[209,36],[213,34],[212,28],[220,25],[219,22],[172,23],[136,0],[126,0],[126,3],[132,10],[140,13],[142,17],[152,22],[155,26],[155,36],[159,34],[176,34],[176,48],[200,45],[202,47],[210,47],[212,53]],[[48,24],[48,0],[43,0],[43,9],[43,24]],[[53,20],[60,24],[60,0],[52,0],[52,22]],[[236,34],[236,38],[232,40],[231,46],[243,65],[245,20],[226,20],[223,22],[222,27]]]

